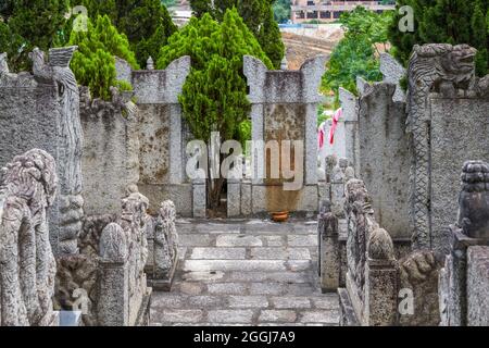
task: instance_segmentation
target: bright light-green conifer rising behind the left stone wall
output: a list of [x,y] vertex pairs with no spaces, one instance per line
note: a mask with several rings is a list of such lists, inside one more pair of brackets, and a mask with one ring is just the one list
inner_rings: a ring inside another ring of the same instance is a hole
[[118,34],[109,16],[98,16],[96,24],[88,21],[88,32],[72,32],[68,45],[78,46],[71,67],[78,84],[88,86],[96,98],[111,99],[110,87],[131,89],[116,80],[114,55],[126,60],[133,69],[139,69],[129,42]]

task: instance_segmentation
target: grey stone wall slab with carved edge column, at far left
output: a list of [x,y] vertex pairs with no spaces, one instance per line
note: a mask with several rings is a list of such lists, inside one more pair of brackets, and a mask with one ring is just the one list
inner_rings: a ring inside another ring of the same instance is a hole
[[70,61],[76,47],[30,53],[33,75],[9,72],[0,55],[0,165],[12,153],[32,148],[58,163],[60,190],[50,210],[50,239],[55,254],[76,253],[82,228],[82,150],[79,95]]

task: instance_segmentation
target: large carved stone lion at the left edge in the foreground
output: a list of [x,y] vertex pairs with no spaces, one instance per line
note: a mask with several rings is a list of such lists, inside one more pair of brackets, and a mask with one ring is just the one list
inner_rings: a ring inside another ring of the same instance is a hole
[[47,210],[58,186],[54,159],[34,149],[2,169],[0,182],[0,323],[53,325],[57,265]]

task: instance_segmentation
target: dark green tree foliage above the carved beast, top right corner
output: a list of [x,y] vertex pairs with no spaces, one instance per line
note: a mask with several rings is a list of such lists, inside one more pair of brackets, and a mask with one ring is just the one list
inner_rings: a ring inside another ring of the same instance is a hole
[[[389,40],[393,55],[408,64],[414,45],[429,42],[468,44],[478,50],[476,73],[489,71],[489,35],[487,13],[489,0],[401,0],[398,9],[410,5],[414,10],[414,33],[401,33],[399,12],[389,26]],[[486,15],[486,21],[485,21]],[[486,24],[485,24],[486,22]]]

